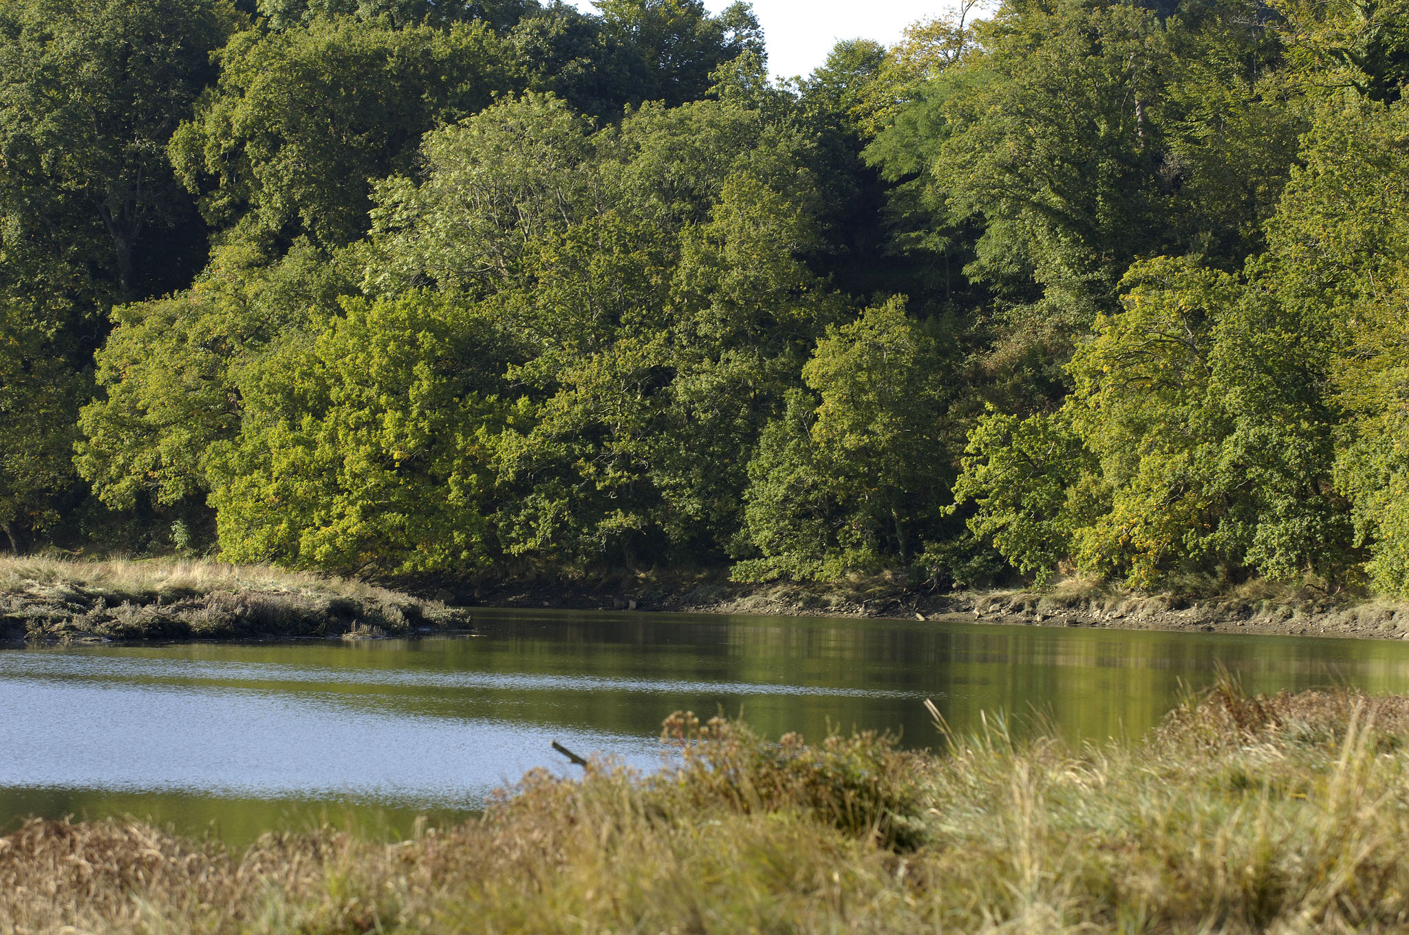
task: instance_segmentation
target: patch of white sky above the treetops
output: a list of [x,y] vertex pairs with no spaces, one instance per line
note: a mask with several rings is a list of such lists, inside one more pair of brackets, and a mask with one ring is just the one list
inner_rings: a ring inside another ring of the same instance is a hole
[[[589,0],[573,0],[589,10]],[[719,13],[730,0],[704,0]],[[768,38],[768,70],[807,75],[827,58],[837,39],[875,39],[890,45],[916,20],[938,15],[952,0],[752,0]]]

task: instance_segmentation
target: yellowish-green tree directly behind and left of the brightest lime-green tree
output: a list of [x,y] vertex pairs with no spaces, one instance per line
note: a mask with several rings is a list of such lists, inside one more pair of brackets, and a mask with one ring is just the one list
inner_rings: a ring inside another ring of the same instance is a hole
[[79,417],[79,473],[116,510],[203,503],[206,458],[240,435],[263,358],[352,293],[352,276],[306,244],[273,265],[230,245],[189,290],[117,307],[97,352],[99,399]]

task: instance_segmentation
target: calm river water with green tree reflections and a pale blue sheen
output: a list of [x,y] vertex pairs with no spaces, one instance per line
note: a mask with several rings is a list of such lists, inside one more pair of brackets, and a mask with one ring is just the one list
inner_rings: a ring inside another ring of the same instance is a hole
[[0,832],[137,815],[230,842],[330,820],[448,821],[550,743],[650,769],[661,720],[723,710],[769,736],[828,725],[934,745],[1037,711],[1137,735],[1219,666],[1253,691],[1409,691],[1409,642],[823,618],[476,611],[473,636],[0,651]]

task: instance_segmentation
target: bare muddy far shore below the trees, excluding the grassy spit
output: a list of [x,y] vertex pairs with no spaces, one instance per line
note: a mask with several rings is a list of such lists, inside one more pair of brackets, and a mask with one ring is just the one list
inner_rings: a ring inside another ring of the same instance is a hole
[[766,584],[707,576],[637,575],[592,582],[495,582],[457,591],[454,600],[486,607],[923,618],[1029,627],[1409,639],[1409,603],[1268,582],[1200,597],[1140,593],[1084,580],[1062,582],[1045,590],[936,591],[910,587],[885,575],[836,583]]

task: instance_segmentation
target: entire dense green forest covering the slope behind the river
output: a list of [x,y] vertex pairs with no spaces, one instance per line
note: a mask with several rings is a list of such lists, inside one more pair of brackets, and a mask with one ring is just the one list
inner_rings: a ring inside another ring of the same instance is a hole
[[0,527],[1409,591],[1409,0],[0,0]]

